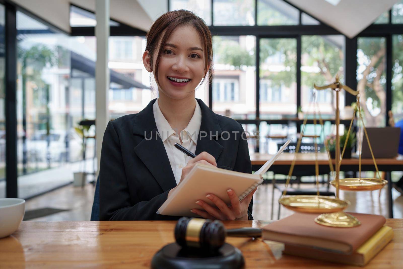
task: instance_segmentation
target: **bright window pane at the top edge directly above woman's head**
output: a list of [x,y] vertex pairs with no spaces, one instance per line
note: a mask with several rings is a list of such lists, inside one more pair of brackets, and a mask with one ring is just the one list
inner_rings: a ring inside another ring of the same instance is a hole
[[211,25],[212,0],[169,0],[169,10],[186,9],[193,11],[207,25]]

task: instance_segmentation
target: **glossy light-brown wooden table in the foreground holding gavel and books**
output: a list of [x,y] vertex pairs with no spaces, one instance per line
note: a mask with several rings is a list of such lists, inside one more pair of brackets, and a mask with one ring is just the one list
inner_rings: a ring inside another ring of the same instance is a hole
[[[262,227],[271,221],[224,221],[227,229]],[[0,268],[150,268],[153,255],[174,242],[175,221],[23,221],[0,239]],[[388,219],[395,237],[366,268],[402,268],[403,219]],[[282,256],[281,244],[228,238],[245,258],[245,268],[340,268],[341,265]],[[343,266],[343,265],[342,265]],[[357,268],[343,266],[343,268]]]

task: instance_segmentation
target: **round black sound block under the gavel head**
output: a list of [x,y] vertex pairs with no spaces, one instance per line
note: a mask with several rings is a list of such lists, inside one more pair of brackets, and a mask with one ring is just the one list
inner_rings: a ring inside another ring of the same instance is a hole
[[241,251],[227,243],[214,253],[172,243],[158,250],[151,261],[152,269],[238,269],[244,265]]

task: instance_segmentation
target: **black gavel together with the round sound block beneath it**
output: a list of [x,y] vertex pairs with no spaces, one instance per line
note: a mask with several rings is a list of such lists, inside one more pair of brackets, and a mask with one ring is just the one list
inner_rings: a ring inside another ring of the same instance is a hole
[[153,269],[242,268],[238,248],[225,243],[226,236],[260,237],[262,230],[243,228],[226,231],[221,221],[183,217],[175,226],[176,243],[168,244],[153,257]]

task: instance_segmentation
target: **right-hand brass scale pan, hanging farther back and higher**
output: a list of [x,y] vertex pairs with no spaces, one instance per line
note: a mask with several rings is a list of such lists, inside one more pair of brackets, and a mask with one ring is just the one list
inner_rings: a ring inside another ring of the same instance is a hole
[[[330,181],[336,188],[336,180]],[[362,178],[358,177],[339,179],[339,189],[340,190],[351,190],[351,191],[369,191],[369,190],[379,190],[383,186],[388,184],[388,181],[384,179],[377,178]]]

